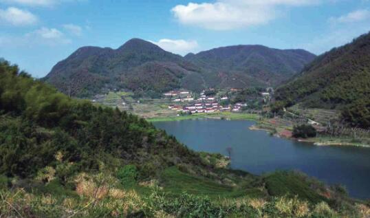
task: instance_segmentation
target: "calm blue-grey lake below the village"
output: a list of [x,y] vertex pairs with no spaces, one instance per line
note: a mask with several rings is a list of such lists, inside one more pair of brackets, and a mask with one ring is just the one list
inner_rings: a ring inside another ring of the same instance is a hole
[[227,155],[231,167],[261,175],[299,170],[327,184],[342,184],[351,197],[370,199],[370,149],[356,146],[315,146],[248,129],[246,120],[182,120],[154,122],[195,151]]

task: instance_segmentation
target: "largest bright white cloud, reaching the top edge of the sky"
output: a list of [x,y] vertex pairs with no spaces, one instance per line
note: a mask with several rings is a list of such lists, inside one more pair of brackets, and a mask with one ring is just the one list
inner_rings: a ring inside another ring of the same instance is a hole
[[215,3],[188,3],[172,8],[179,23],[210,30],[231,30],[268,23],[281,6],[307,6],[324,0],[217,0]]

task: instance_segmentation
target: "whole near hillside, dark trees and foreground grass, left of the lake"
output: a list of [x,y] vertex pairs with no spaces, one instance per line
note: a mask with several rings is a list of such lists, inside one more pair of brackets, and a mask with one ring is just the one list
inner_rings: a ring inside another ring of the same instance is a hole
[[341,186],[252,175],[0,61],[1,217],[366,217]]

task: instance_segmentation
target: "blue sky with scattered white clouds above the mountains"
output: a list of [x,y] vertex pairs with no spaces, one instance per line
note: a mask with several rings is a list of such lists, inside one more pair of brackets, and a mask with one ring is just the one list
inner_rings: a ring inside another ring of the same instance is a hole
[[370,31],[370,0],[0,0],[0,57],[37,78],[78,47],[176,54],[261,44],[320,54]]

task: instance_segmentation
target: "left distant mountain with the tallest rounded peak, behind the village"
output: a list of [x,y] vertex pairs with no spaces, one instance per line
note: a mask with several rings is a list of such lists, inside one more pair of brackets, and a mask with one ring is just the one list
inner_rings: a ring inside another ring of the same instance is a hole
[[[43,79],[72,96],[89,96],[101,89],[127,88],[163,92],[178,88],[197,67],[182,56],[141,39],[131,39],[117,50],[81,47],[57,63]],[[199,76],[193,76],[199,78]]]

